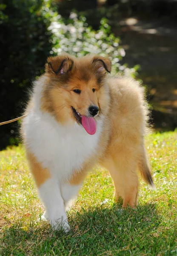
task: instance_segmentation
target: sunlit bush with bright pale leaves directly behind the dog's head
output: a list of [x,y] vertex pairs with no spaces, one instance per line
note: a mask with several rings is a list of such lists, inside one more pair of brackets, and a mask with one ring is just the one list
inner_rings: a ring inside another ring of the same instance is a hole
[[98,31],[92,29],[86,23],[86,17],[77,17],[72,12],[69,20],[65,20],[60,15],[53,15],[49,30],[53,35],[53,47],[51,54],[68,52],[77,57],[88,53],[107,56],[112,62],[112,73],[126,73],[136,76],[137,67],[129,69],[126,65],[120,65],[119,61],[125,56],[125,51],[120,47],[120,38],[116,38],[111,33],[108,20],[103,18]]

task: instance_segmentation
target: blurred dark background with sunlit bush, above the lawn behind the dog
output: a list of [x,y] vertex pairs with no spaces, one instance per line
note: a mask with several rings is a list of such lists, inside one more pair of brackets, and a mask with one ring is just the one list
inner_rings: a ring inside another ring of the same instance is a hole
[[[112,73],[143,81],[156,131],[177,127],[176,0],[1,0],[0,122],[23,114],[46,58],[108,56]],[[19,143],[0,126],[0,149]]]

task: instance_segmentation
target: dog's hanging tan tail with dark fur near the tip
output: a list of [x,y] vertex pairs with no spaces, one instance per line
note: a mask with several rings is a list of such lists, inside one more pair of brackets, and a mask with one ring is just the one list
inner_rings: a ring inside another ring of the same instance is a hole
[[148,183],[152,189],[156,189],[151,176],[151,169],[148,163],[144,142],[142,143],[141,157],[138,163],[138,169],[140,170],[140,174],[143,177],[143,180]]

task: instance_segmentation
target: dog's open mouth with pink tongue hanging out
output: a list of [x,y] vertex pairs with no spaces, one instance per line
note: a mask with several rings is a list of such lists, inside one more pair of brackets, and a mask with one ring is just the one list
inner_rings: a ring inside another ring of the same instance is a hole
[[93,117],[82,116],[79,112],[71,106],[72,113],[79,125],[82,125],[86,132],[93,135],[97,131],[97,123]]

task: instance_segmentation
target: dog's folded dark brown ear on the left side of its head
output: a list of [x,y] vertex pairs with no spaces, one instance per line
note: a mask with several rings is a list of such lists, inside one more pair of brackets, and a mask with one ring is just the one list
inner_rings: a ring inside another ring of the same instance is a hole
[[63,75],[68,73],[73,66],[73,59],[69,55],[60,55],[56,57],[49,57],[46,64],[46,72],[56,75]]

